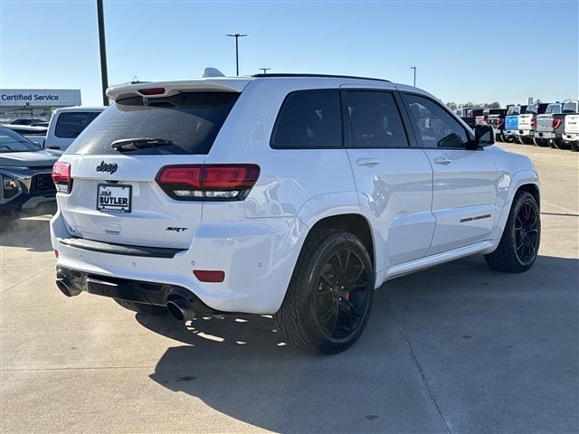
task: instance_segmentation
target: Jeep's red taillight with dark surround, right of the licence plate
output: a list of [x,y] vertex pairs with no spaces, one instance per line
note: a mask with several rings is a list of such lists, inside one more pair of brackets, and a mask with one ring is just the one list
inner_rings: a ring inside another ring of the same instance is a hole
[[259,176],[259,165],[167,165],[156,179],[178,201],[240,201]]

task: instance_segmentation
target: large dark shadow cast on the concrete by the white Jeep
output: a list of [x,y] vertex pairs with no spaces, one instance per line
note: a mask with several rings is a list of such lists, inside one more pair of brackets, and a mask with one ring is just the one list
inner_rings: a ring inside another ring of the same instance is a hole
[[[492,431],[498,419],[515,432],[521,415],[548,431],[554,418],[571,423],[565,411],[577,404],[574,380],[554,370],[576,363],[578,270],[578,259],[540,256],[527,273],[496,273],[476,256],[394,279],[377,290],[360,340],[332,356],[286,344],[271,316],[137,319],[178,343],[151,379],[262,429],[445,432],[440,405],[461,432]],[[553,388],[568,405],[539,399]]]

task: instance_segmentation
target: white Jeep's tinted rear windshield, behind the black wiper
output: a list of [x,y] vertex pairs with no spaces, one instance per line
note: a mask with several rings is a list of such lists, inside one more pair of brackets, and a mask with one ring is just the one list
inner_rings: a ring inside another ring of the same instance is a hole
[[239,95],[183,92],[166,98],[119,100],[82,132],[66,154],[118,155],[112,142],[130,138],[162,139],[172,144],[124,150],[124,154],[208,154]]

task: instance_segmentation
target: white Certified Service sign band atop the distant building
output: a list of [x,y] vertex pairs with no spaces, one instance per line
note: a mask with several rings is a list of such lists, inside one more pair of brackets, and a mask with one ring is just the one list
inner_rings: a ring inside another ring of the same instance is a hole
[[70,107],[81,105],[81,90],[0,90],[1,107]]

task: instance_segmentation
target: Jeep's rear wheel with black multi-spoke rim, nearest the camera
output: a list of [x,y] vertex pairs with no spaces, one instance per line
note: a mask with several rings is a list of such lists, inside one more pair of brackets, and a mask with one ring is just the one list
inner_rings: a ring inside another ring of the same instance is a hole
[[346,350],[368,322],[374,282],[372,261],[356,236],[327,229],[311,233],[274,316],[281,334],[309,351]]

